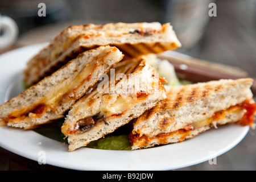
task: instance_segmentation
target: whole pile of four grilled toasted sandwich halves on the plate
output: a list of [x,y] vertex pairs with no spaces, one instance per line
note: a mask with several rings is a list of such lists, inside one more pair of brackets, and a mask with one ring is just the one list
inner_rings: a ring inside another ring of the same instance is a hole
[[65,28],[28,61],[27,89],[0,106],[0,125],[35,129],[63,118],[68,151],[131,124],[131,150],[182,142],[218,125],[254,127],[251,78],[164,86],[144,55],[181,46],[169,23]]

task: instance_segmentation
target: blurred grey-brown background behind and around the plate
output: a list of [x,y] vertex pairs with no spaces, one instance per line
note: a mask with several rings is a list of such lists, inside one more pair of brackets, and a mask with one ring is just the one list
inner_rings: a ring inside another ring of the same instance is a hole
[[[42,2],[46,16],[38,15]],[[217,16],[210,17],[212,2]],[[73,24],[170,22],[183,45],[177,52],[232,65],[256,77],[256,0],[1,0],[0,14],[18,27],[13,43],[0,53],[51,41]],[[5,34],[0,27],[0,38]],[[206,162],[183,169],[255,170],[254,141],[255,131],[250,131],[237,147],[218,157],[217,165]]]

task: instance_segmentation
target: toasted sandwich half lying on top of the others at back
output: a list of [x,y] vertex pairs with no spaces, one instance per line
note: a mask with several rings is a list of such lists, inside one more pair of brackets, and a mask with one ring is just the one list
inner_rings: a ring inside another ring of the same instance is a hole
[[115,46],[123,59],[147,53],[159,53],[180,47],[170,24],[108,23],[85,24],[65,28],[46,48],[32,57],[24,70],[24,83],[31,86],[50,75],[84,50]]

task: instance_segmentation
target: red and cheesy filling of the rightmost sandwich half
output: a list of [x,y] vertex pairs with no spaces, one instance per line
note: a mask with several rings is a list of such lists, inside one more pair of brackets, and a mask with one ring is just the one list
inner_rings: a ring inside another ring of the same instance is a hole
[[186,137],[191,134],[192,131],[202,129],[205,126],[216,127],[218,121],[220,121],[221,119],[225,119],[226,115],[228,115],[229,113],[236,113],[238,111],[242,111],[243,115],[239,121],[236,121],[236,123],[242,126],[254,127],[254,114],[256,113],[256,105],[254,100],[251,99],[245,100],[241,104],[231,106],[226,110],[216,111],[210,118],[206,118],[202,121],[192,122],[190,125],[187,125],[182,129],[172,131],[170,133],[160,133],[155,136],[148,136],[133,131],[129,134],[129,140],[132,145],[134,144],[135,146],[141,147],[146,147],[153,140],[157,140],[157,144],[167,144],[169,143],[167,141],[168,138],[175,136],[179,138],[177,142],[183,142]]

